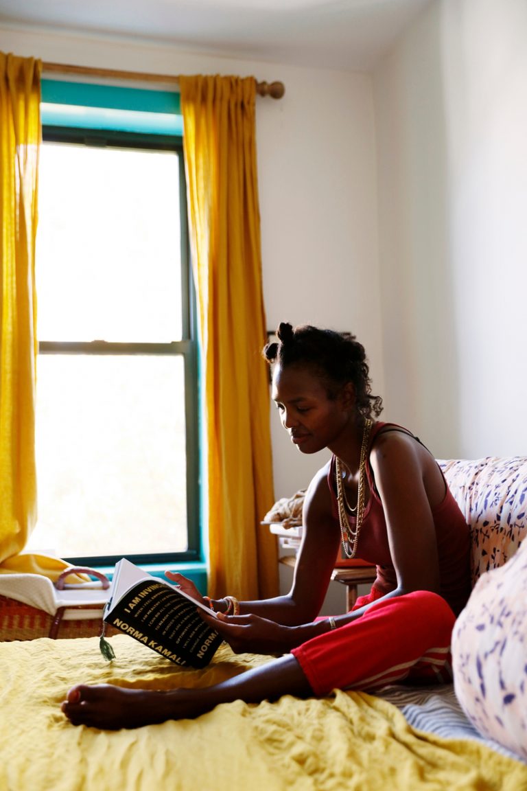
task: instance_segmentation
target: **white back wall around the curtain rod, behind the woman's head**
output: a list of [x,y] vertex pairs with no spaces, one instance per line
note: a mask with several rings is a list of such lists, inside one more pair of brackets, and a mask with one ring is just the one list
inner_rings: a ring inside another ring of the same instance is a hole
[[[258,180],[268,327],[281,320],[355,331],[382,391],[371,78],[200,55],[181,48],[0,27],[0,50],[50,62],[156,74],[282,80],[258,99]],[[300,456],[273,410],[277,497],[306,486],[326,456]]]

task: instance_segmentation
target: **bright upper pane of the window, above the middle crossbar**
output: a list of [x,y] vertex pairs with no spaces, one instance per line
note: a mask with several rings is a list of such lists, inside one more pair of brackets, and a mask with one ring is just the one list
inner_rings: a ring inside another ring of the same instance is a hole
[[177,154],[46,143],[39,192],[39,339],[180,340]]

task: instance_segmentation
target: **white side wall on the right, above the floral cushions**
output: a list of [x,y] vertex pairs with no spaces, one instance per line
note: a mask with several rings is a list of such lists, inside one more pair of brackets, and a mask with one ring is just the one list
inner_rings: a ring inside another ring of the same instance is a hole
[[527,3],[435,0],[378,66],[387,414],[527,452]]

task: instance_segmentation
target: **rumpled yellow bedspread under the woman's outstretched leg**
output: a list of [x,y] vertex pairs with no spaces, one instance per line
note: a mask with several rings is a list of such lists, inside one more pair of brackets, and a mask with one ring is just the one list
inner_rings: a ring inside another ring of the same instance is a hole
[[205,686],[264,657],[222,646],[181,670],[124,635],[0,644],[2,791],[525,791],[527,766],[470,741],[408,728],[390,703],[337,691],[323,700],[217,706],[194,721],[133,731],[73,727],[59,705],[77,682]]

